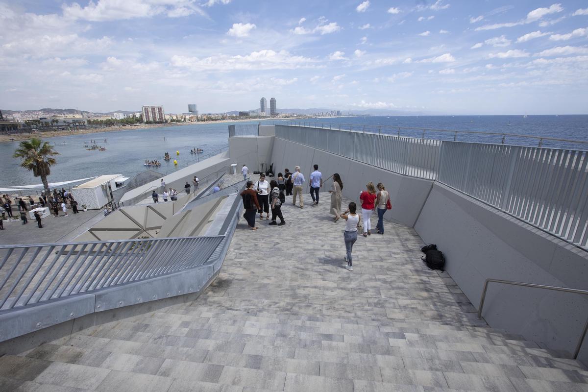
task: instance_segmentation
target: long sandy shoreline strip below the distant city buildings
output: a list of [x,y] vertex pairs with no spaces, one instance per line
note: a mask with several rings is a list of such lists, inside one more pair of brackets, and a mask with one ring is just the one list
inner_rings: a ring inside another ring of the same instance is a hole
[[[297,120],[297,119],[305,119],[301,117],[292,117],[283,120]],[[133,129],[147,129],[147,128],[163,128],[168,126],[182,126],[182,125],[201,125],[201,124],[218,124],[218,123],[233,123],[233,122],[261,122],[261,121],[276,121],[280,119],[238,119],[238,120],[216,120],[216,121],[201,121],[201,122],[181,122],[181,123],[164,123],[164,124],[141,124],[141,125],[127,125],[127,126],[109,126],[104,128],[95,128],[95,129],[81,129],[78,131],[75,130],[51,130],[47,132],[38,132],[38,133],[15,133],[12,135],[0,135],[0,143],[2,142],[18,142],[21,140],[28,140],[31,138],[56,138],[59,136],[70,136],[70,135],[85,135],[88,133],[102,133],[102,132],[118,132],[123,130],[133,130]],[[14,139],[14,140],[10,140]]]

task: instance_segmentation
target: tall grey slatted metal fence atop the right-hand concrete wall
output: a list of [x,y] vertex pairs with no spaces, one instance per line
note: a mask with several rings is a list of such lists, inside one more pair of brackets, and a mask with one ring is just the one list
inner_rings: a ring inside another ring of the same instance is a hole
[[438,181],[588,249],[588,151],[453,142],[276,125],[291,140]]

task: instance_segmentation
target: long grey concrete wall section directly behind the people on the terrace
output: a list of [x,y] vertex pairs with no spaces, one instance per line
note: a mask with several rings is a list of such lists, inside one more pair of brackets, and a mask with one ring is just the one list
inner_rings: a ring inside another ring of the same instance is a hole
[[[299,165],[305,176],[305,192],[309,192],[309,176],[314,170],[312,165],[319,165],[320,172],[326,179],[333,173],[339,173],[343,181],[343,195],[359,202],[359,193],[365,190],[369,181],[374,184],[382,182],[390,193],[392,210],[384,215],[385,219],[413,227],[425,203],[432,182],[398,175],[379,167],[359,163],[323,150],[301,145],[288,140],[276,138],[273,143],[272,158],[274,172],[283,173],[286,167],[293,172]],[[332,180],[328,180],[321,192],[330,189]]]

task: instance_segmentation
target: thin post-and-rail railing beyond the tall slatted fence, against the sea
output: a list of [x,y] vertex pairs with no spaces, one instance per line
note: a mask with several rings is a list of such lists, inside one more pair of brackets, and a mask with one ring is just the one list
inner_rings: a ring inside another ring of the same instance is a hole
[[[459,136],[472,136],[476,135],[480,138],[490,138],[487,140],[459,140],[466,142],[488,142],[488,143],[500,143],[505,144],[509,140],[513,139],[526,139],[534,140],[537,143],[537,147],[542,147],[543,142],[546,140],[552,142],[564,142],[564,143],[577,143],[584,145],[588,148],[588,141],[586,140],[572,140],[572,139],[560,139],[550,138],[547,136],[533,136],[533,135],[519,135],[517,133],[505,133],[505,132],[480,132],[476,130],[451,130],[451,129],[435,129],[435,128],[417,128],[410,126],[393,126],[393,125],[365,125],[365,124],[346,124],[346,123],[324,123],[316,121],[296,121],[288,120],[285,125],[293,126],[304,126],[309,128],[323,128],[323,129],[337,129],[337,130],[352,130],[355,132],[362,133],[377,133],[385,135],[404,136],[407,138],[420,138],[420,139],[445,139],[453,142],[458,141]],[[437,134],[437,135],[436,135]]]

